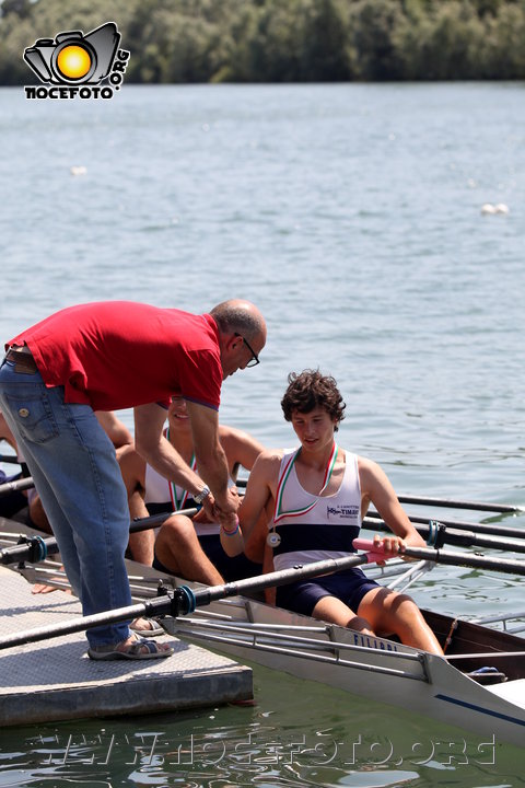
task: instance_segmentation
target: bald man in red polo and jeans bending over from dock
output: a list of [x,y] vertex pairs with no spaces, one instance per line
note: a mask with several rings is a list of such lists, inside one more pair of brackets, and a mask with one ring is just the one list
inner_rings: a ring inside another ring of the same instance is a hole
[[[136,445],[194,499],[235,520],[219,441],[221,384],[258,363],[266,324],[249,301],[209,314],[135,302],[61,310],[7,343],[0,407],[26,459],[84,615],[131,604],[124,554],[126,489],[94,410],[135,407]],[[199,476],[162,434],[165,407],[183,396]],[[205,482],[202,482],[202,479]],[[92,659],[152,659],[173,650],[137,640],[128,623],[88,630]]]

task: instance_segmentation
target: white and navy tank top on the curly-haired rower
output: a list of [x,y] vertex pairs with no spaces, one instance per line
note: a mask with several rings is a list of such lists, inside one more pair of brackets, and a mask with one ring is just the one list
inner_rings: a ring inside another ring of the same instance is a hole
[[276,570],[296,564],[342,558],[355,553],[352,540],[361,529],[361,486],[358,457],[346,452],[345,475],[337,493],[307,493],[295,472],[294,450],[281,460],[273,518],[268,529],[281,537],[273,548]]

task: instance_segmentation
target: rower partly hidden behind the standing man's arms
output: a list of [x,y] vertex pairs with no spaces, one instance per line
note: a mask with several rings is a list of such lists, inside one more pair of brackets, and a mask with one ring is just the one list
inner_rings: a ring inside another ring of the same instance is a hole
[[[183,397],[172,397],[167,422],[166,439],[197,473],[191,425]],[[249,471],[264,449],[247,432],[224,425],[219,426],[219,440],[232,479],[238,465]],[[132,447],[126,449],[119,463],[131,519],[196,506],[187,490],[158,473]],[[261,571],[264,544],[256,547],[254,543],[249,557],[238,554],[235,534],[231,533],[234,530],[235,526],[230,532],[220,529],[201,509],[192,520],[180,514],[171,517],[162,524],[156,540],[153,529],[131,534],[130,551],[135,560],[153,565],[161,571],[218,586],[224,580],[238,580]],[[234,545],[237,555],[230,557],[226,551],[233,552]]]

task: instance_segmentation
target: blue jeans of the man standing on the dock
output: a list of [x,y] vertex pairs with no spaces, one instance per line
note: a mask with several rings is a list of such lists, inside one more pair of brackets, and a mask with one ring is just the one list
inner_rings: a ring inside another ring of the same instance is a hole
[[[89,405],[63,402],[38,372],[0,368],[0,409],[28,465],[84,615],[131,604],[125,565],[129,509],[115,449]],[[117,644],[129,622],[88,629],[90,646]]]

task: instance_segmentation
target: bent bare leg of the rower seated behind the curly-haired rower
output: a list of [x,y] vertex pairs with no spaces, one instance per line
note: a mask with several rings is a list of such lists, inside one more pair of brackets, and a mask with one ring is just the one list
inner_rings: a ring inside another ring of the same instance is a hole
[[155,556],[173,575],[186,580],[220,586],[223,577],[210,561],[187,517],[174,515],[162,524],[155,541]]

